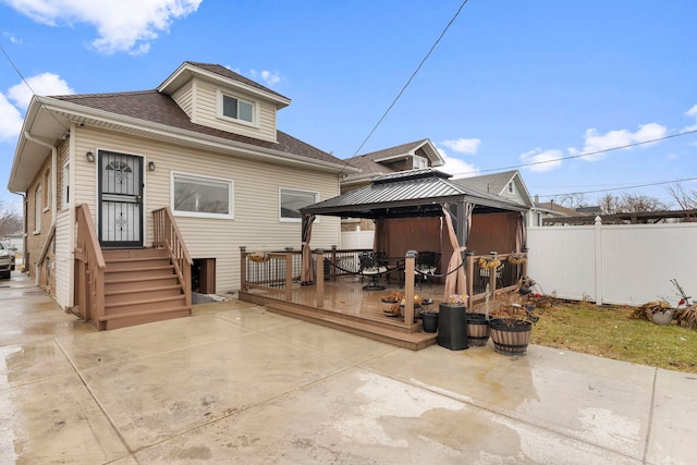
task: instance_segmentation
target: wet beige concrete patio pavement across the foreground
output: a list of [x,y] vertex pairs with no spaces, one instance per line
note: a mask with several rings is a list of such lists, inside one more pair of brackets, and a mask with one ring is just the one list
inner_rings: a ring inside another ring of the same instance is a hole
[[697,376],[419,352],[230,299],[96,332],[0,281],[0,463],[692,464]]

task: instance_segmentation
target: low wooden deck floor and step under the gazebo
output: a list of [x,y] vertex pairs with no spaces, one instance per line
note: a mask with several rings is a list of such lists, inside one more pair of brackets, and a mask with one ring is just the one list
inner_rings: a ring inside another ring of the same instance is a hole
[[[370,338],[400,347],[418,351],[435,344],[437,334],[424,332],[420,319],[411,325],[403,317],[389,317],[383,309],[381,297],[392,292],[401,292],[396,282],[386,284],[381,291],[367,291],[357,278],[341,278],[325,281],[323,304],[317,305],[317,286],[294,283],[292,298],[285,299],[285,292],[260,289],[240,291],[240,299],[265,305],[269,311],[298,318],[341,331]],[[424,298],[432,298],[438,308],[443,301],[443,286],[425,283],[416,286],[415,293]]]

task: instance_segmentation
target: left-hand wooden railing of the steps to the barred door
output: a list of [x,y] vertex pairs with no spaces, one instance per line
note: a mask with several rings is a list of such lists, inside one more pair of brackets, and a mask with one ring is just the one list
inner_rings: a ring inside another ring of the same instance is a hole
[[105,314],[105,257],[87,204],[76,207],[75,289],[80,315],[99,321]]

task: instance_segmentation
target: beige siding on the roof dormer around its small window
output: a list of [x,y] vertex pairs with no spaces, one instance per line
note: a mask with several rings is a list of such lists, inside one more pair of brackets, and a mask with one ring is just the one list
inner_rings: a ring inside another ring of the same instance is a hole
[[[194,79],[193,85],[196,88],[195,117],[192,121],[196,124],[215,127],[221,131],[228,131],[244,136],[254,137],[262,140],[276,142],[276,106],[260,101],[252,95],[233,89],[222,89],[211,83]],[[256,102],[258,118],[256,126],[243,123],[235,123],[218,117],[218,90],[221,89],[225,94],[239,97],[243,100]]]

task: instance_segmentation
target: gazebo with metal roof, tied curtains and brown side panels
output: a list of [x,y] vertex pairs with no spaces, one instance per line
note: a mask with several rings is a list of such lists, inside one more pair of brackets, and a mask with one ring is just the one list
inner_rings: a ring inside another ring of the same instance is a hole
[[315,281],[311,227],[317,216],[367,218],[376,224],[374,250],[404,256],[439,250],[445,296],[466,293],[463,254],[521,253],[525,249],[527,207],[501,196],[456,185],[432,168],[377,178],[366,187],[301,209],[301,281]]

